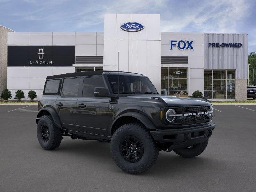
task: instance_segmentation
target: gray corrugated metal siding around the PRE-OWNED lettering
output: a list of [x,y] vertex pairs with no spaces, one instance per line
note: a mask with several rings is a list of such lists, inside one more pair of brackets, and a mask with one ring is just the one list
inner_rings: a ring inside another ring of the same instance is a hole
[[[247,79],[247,34],[204,34],[204,69],[236,69],[237,79]],[[241,43],[242,47],[208,47],[208,43]]]

